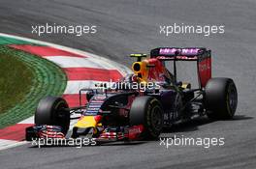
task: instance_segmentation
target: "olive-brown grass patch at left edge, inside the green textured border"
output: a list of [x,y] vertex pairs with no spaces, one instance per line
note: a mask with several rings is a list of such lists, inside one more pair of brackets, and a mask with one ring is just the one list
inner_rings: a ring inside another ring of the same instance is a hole
[[33,85],[34,74],[25,63],[0,51],[0,113],[15,107]]

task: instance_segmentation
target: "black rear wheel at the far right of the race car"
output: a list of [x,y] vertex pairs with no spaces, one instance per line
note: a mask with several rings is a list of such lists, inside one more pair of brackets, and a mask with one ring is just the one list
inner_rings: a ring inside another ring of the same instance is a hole
[[238,105],[238,92],[230,78],[211,78],[206,86],[206,107],[210,119],[232,119]]

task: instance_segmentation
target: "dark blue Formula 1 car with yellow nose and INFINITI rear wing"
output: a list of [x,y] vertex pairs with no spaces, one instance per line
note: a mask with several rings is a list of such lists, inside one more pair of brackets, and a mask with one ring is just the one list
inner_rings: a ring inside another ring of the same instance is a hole
[[[100,84],[95,89],[80,89],[79,107],[69,107],[62,98],[42,99],[35,112],[35,126],[26,128],[26,140],[67,137],[73,114],[80,117],[70,137],[96,141],[155,139],[163,127],[193,117],[233,118],[238,104],[236,85],[230,78],[211,78],[207,48],[160,47],[152,49],[148,58],[145,54],[131,57],[137,58],[133,74],[109,87]],[[165,66],[171,61],[173,70]],[[177,61],[197,64],[197,88],[176,80]]]

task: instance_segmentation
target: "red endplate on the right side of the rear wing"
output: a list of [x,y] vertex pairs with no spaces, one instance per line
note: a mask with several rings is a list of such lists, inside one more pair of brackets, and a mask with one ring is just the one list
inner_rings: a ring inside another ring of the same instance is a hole
[[198,62],[198,76],[200,79],[201,87],[206,87],[208,79],[211,78],[211,59],[205,58]]

